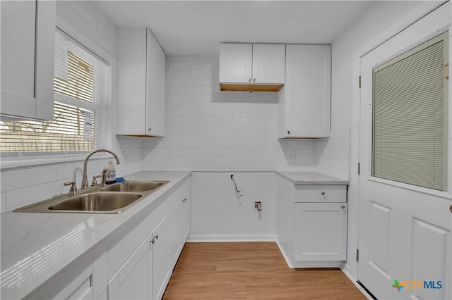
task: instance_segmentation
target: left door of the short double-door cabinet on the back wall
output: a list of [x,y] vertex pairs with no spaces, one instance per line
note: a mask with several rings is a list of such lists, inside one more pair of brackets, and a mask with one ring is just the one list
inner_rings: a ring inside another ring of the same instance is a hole
[[251,82],[252,44],[220,44],[220,83]]

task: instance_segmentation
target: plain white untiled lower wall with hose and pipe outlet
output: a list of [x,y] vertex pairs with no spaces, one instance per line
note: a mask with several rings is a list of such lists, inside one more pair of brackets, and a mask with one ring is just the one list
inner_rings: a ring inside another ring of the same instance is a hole
[[[235,192],[234,175],[242,196]],[[262,211],[254,208],[261,201]],[[276,173],[195,172],[191,176],[191,241],[275,240]]]

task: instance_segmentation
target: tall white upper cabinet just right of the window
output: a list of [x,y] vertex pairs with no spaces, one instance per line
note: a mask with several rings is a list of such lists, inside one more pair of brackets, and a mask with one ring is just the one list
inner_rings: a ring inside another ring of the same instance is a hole
[[118,28],[117,135],[165,135],[165,52],[148,28]]

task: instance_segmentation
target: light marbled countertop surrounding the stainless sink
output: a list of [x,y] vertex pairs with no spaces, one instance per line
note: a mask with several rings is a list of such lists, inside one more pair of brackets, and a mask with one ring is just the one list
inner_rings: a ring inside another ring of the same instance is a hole
[[[174,192],[191,172],[143,171],[126,180],[169,180],[157,191],[119,214],[2,213],[1,296],[21,299],[101,242],[114,239],[119,227],[152,213],[160,196]],[[123,226],[123,227],[124,227]]]

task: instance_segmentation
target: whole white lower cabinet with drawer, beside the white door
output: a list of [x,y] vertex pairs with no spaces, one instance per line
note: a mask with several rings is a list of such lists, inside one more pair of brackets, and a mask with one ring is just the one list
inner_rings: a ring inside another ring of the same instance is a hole
[[277,240],[292,268],[337,267],[347,255],[347,185],[278,176]]

